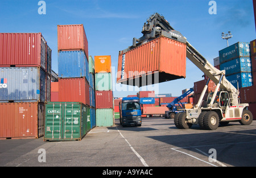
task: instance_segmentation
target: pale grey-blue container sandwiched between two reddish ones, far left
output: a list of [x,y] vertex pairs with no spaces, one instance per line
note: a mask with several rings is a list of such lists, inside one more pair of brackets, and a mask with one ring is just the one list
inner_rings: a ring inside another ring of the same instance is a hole
[[46,101],[46,72],[43,69],[2,67],[0,78],[0,102]]

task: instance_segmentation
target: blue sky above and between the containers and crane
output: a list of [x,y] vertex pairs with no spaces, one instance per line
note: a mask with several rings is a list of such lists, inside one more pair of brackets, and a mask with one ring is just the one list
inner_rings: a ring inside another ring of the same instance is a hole
[[[39,15],[39,0],[0,0],[0,32],[42,32],[52,49],[52,69],[57,72],[57,24],[84,24],[89,55],[111,55],[117,72],[118,51],[142,36],[146,19],[159,13],[180,31],[210,63],[226,47],[221,32],[231,31],[229,44],[255,39],[252,0],[216,0],[217,14],[209,14],[210,0],[45,0],[46,14]],[[180,96],[181,90],[202,80],[201,72],[187,59],[186,78],[144,88],[125,87],[113,82],[115,97],[155,89],[156,93]],[[115,73],[113,72],[113,77]],[[130,91],[124,91],[130,90]]]

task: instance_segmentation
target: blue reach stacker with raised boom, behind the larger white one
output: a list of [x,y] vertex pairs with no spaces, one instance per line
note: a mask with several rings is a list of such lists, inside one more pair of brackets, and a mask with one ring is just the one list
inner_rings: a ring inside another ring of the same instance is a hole
[[[189,90],[187,90],[187,92],[181,94],[181,96],[177,97],[174,99],[174,101],[172,101],[170,104],[168,104],[166,107],[168,107],[168,111],[166,111],[164,113],[164,118],[168,119],[174,119],[175,115],[177,113],[183,112],[184,110],[181,109],[185,109],[185,106],[183,105],[182,102],[180,102],[184,97],[188,96],[189,94],[191,94],[194,91],[194,88],[190,88]],[[176,105],[180,106],[180,109],[177,109]]]

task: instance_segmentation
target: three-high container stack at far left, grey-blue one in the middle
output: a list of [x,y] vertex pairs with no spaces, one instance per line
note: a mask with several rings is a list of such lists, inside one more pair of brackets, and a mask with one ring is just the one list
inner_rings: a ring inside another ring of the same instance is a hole
[[44,134],[51,49],[41,33],[0,34],[0,139]]

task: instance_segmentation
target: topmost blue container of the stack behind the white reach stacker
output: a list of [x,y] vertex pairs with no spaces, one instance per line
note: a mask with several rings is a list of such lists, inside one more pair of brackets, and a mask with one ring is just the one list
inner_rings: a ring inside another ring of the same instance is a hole
[[237,42],[218,51],[220,64],[238,57],[250,57],[250,43]]

